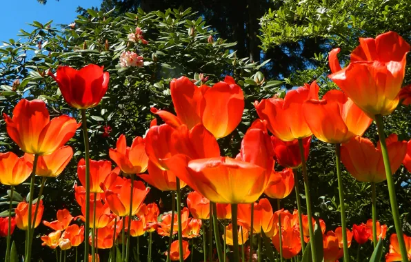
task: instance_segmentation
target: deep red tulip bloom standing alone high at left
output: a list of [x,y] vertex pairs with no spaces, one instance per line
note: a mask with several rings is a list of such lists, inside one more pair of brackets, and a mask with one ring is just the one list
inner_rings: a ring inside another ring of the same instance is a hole
[[51,72],[49,74],[57,82],[64,100],[72,108],[94,108],[108,89],[109,74],[97,65],[90,64],[80,70],[59,66],[55,77]]

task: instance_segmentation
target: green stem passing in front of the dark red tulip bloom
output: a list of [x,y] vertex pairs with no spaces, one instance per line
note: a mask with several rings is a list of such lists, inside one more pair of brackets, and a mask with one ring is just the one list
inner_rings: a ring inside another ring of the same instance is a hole
[[[306,200],[306,205],[307,205],[307,216],[308,216],[308,221],[312,221],[310,183],[308,181],[307,165],[305,165],[304,146],[303,146],[302,139],[299,139],[299,148],[300,148],[300,156],[301,156],[301,169],[303,170],[305,200]],[[314,239],[314,228],[312,227],[312,223],[308,223],[308,231],[310,232],[310,239]],[[315,241],[310,241],[310,245],[311,245],[312,261],[317,262],[317,250],[315,248]]]

